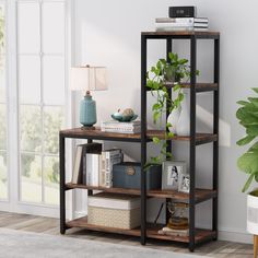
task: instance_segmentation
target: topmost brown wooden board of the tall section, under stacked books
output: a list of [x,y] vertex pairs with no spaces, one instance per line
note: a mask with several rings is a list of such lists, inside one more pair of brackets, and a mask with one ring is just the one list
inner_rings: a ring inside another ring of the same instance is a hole
[[211,38],[215,39],[220,37],[219,32],[212,31],[173,31],[173,32],[142,32],[142,36],[146,38],[190,38],[191,36],[196,36],[197,38]]

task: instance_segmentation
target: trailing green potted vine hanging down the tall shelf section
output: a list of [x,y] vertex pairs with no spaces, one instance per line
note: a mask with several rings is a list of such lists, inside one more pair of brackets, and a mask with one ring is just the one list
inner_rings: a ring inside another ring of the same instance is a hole
[[[199,74],[199,71],[196,72]],[[152,106],[153,122],[157,124],[162,120],[162,115],[166,112],[172,113],[174,108],[180,106],[184,99],[181,92],[181,82],[187,83],[190,79],[190,67],[187,59],[179,59],[177,54],[169,52],[168,60],[159,59],[146,73],[146,87],[151,89],[152,96],[155,96],[155,103]],[[168,89],[173,87],[175,94],[174,99],[169,96]],[[168,131],[172,125],[166,122],[164,140],[153,137],[152,141],[155,144],[161,144],[161,151],[157,156],[152,156],[151,162],[161,164],[165,159],[171,160],[172,153],[166,151],[168,139],[174,137],[173,132]]]

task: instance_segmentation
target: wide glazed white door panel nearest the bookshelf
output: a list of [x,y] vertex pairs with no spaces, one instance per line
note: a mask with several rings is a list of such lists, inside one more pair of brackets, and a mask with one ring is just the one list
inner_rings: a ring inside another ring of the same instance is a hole
[[59,203],[59,138],[64,124],[63,1],[17,2],[20,200]]

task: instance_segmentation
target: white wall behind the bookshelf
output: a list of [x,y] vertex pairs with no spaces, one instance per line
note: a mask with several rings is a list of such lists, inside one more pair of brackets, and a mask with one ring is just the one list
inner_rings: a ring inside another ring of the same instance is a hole
[[[74,54],[77,64],[102,64],[108,68],[109,89],[94,93],[97,101],[98,121],[106,120],[118,108],[132,107],[140,112],[140,32],[153,31],[154,19],[166,16],[169,5],[194,4],[199,16],[208,16],[210,28],[221,32],[221,141],[220,141],[220,201],[219,230],[221,239],[250,242],[246,234],[246,195],[241,192],[246,179],[236,168],[236,159],[243,152],[235,142],[244,130],[239,128],[235,112],[236,101],[250,94],[249,89],[258,85],[256,13],[258,2],[236,0],[77,0],[74,21]],[[164,57],[164,43],[150,44],[152,63]],[[184,47],[183,47],[184,46]],[[175,50],[181,56],[186,52],[186,42],[176,44]],[[212,58],[208,49],[210,44],[198,45],[198,69],[200,79],[209,80],[212,71]],[[210,63],[210,64],[209,64]],[[204,75],[207,74],[207,75]],[[212,116],[211,95],[198,97],[199,129],[209,130]],[[176,155],[187,159],[187,146],[180,144]],[[137,144],[126,144],[124,149],[139,159]],[[198,149],[197,168],[199,185],[211,184],[211,145]],[[201,204],[202,213],[198,224],[209,226],[210,203]],[[152,210],[152,216],[156,211]],[[207,219],[208,218],[208,219]]]

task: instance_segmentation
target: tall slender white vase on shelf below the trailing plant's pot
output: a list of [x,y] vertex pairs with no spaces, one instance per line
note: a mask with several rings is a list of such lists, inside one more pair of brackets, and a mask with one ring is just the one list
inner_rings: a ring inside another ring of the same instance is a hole
[[181,112],[176,126],[177,136],[190,136],[190,93],[187,89],[183,90],[184,99],[180,104]]

